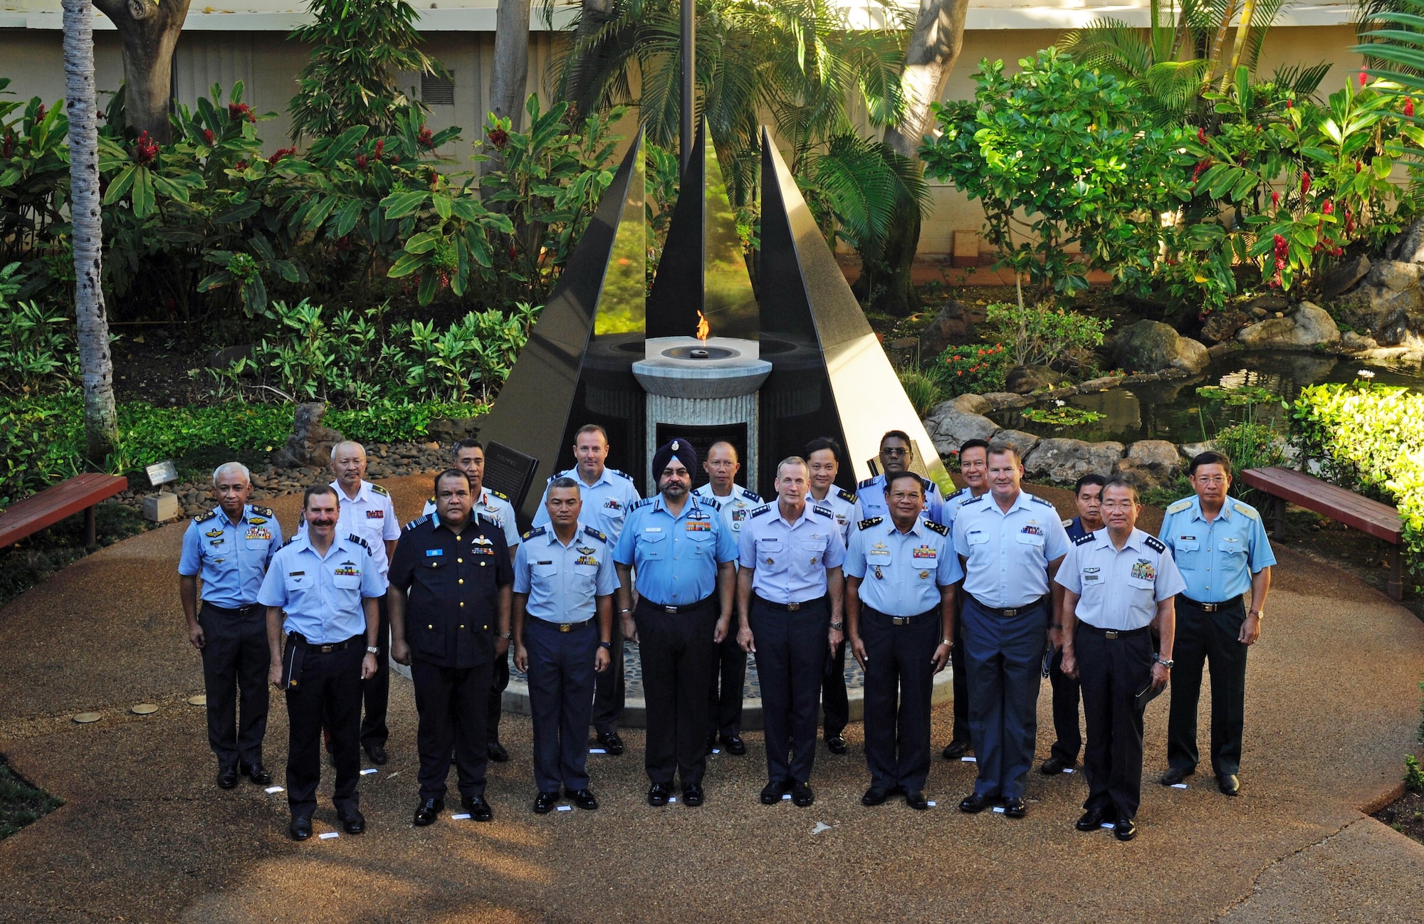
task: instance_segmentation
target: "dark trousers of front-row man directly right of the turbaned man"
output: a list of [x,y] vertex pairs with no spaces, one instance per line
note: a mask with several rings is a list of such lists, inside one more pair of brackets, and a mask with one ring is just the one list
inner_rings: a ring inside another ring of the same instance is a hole
[[787,612],[753,598],[748,622],[762,685],[766,779],[807,783],[816,762],[816,705],[830,651],[830,609],[822,599]]

